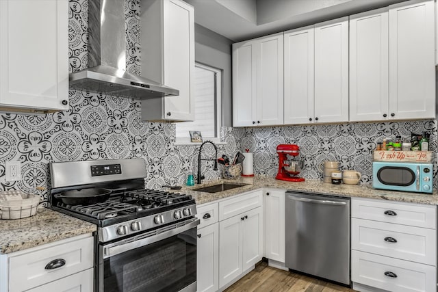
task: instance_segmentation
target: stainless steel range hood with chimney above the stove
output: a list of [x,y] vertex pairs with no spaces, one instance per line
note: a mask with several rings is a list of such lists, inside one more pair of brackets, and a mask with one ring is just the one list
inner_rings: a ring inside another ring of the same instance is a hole
[[69,75],[70,88],[135,99],[179,90],[126,71],[125,1],[88,2],[88,68]]

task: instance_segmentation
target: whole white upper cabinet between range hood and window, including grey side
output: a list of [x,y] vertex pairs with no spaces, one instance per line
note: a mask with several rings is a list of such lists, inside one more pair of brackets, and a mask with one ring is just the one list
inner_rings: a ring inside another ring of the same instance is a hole
[[194,9],[181,0],[141,2],[142,76],[179,96],[142,101],[143,120],[194,120]]

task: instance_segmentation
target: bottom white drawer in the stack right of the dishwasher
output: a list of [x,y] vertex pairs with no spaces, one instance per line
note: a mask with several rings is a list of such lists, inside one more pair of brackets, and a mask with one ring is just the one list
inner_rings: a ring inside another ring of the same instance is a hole
[[397,292],[429,292],[437,289],[436,270],[430,265],[356,250],[351,252],[351,262],[353,282]]

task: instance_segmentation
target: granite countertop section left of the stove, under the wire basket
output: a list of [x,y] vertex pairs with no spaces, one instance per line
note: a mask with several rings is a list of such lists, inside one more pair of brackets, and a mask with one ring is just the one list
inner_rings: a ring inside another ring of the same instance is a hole
[[0,220],[0,254],[17,252],[96,230],[96,224],[40,208],[31,217]]

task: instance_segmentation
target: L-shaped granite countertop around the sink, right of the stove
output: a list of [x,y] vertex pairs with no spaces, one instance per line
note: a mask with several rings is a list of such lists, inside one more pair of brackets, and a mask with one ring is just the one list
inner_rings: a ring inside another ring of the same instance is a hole
[[[217,183],[247,183],[243,187],[220,191],[218,193],[209,194],[201,191],[193,191],[198,187],[206,187]],[[438,204],[438,193],[435,190],[433,194],[411,193],[407,191],[385,191],[383,189],[374,189],[371,185],[332,185],[331,183],[323,183],[321,180],[309,179],[300,183],[289,181],[279,181],[275,178],[267,178],[255,176],[251,178],[240,178],[237,180],[219,180],[202,185],[194,185],[192,187],[184,186],[181,191],[186,194],[191,194],[195,199],[196,204],[205,204],[213,202],[237,194],[242,194],[246,191],[260,189],[262,187],[270,187],[274,189],[287,189],[289,191],[304,191],[312,194],[329,194],[333,196],[374,198],[382,200],[394,200],[399,202],[411,202],[418,204]]]

